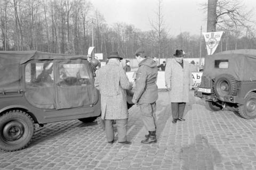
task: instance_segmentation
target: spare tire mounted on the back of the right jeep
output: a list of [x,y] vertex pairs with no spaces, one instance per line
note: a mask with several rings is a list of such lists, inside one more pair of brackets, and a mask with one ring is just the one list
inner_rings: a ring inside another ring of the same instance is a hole
[[230,74],[221,74],[215,79],[214,92],[218,97],[237,95],[236,79]]

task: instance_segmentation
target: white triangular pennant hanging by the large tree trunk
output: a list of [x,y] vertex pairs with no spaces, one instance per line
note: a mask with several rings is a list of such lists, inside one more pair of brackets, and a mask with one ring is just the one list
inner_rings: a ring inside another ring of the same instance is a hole
[[222,33],[223,31],[203,32],[208,55],[212,55],[215,52],[220,43]]

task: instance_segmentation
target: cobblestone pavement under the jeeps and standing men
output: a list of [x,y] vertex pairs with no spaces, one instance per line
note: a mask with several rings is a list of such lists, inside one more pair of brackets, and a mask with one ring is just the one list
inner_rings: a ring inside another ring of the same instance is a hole
[[172,124],[168,95],[159,92],[156,144],[140,143],[146,131],[133,106],[130,146],[107,143],[95,122],[51,123],[36,128],[28,148],[0,152],[0,169],[256,169],[256,120],[230,111],[209,112],[192,93],[186,121]]

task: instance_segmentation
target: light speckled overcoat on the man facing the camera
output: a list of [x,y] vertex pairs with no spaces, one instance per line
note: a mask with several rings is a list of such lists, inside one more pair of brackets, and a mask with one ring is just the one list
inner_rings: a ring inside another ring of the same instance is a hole
[[165,84],[171,85],[169,98],[171,103],[187,103],[189,102],[189,89],[193,81],[189,63],[183,60],[182,66],[170,59],[165,67]]

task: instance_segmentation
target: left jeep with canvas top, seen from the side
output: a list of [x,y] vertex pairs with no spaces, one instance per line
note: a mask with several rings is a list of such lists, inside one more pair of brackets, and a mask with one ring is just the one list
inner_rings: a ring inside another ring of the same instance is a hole
[[101,113],[95,66],[85,56],[0,52],[0,149],[28,146],[35,123],[95,120]]

